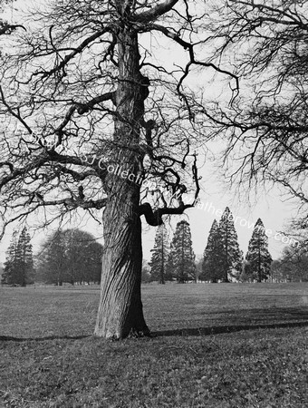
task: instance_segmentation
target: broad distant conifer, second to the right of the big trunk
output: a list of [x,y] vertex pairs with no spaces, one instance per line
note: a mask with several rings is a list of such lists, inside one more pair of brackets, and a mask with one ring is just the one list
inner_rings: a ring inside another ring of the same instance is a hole
[[195,254],[192,249],[189,224],[185,220],[178,222],[171,242],[168,273],[176,278],[178,283],[185,283],[192,279],[196,281]]

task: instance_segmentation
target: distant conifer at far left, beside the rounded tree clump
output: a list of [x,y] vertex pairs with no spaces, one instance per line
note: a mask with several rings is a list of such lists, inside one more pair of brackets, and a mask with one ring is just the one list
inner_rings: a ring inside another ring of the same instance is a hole
[[24,227],[18,237],[14,231],[6,252],[5,270],[2,275],[3,285],[26,285],[34,283],[34,260],[31,238]]

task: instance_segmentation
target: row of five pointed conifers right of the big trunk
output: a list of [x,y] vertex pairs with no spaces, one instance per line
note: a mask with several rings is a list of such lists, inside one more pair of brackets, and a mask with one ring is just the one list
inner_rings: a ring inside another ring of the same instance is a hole
[[209,282],[262,282],[270,276],[271,264],[272,257],[268,251],[268,238],[262,220],[258,219],[255,223],[244,259],[232,213],[226,207],[219,223],[215,219],[212,224],[199,270],[192,250],[188,222],[178,222],[170,246],[167,228],[159,227],[149,262],[149,277],[161,284],[167,280],[185,283],[197,279]]

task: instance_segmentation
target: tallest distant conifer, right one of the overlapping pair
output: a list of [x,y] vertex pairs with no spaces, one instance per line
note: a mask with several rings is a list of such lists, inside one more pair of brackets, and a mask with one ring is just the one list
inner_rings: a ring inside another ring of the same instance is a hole
[[219,221],[219,235],[222,243],[223,281],[229,282],[232,277],[238,279],[243,264],[243,253],[237,242],[233,215],[226,207]]

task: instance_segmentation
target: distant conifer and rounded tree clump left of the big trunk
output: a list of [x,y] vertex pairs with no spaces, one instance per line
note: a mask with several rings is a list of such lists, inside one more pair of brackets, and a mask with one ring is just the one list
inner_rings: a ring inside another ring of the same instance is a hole
[[[6,252],[1,284],[22,286],[43,282],[100,283],[102,246],[80,229],[57,230],[44,240],[34,258],[27,228],[14,232]],[[34,268],[35,263],[35,268]]]

